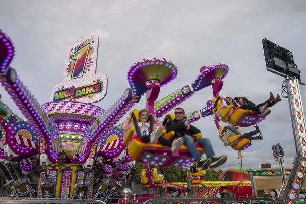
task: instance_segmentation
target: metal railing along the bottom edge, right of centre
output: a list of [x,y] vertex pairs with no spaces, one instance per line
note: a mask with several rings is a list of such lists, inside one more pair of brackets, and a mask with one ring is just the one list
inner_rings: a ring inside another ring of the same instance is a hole
[[204,203],[207,201],[215,201],[218,203],[237,203],[237,202],[246,202],[252,203],[252,201],[267,201],[269,203],[277,204],[272,198],[177,198],[177,199],[150,199],[145,201],[143,204],[150,203]]

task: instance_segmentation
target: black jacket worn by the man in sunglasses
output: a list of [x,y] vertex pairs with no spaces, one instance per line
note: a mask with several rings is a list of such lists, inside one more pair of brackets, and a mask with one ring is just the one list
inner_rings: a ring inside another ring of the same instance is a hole
[[[170,122],[168,121],[166,123],[166,130],[167,133],[169,133],[170,131],[174,131],[175,135],[173,137],[172,140],[174,140],[175,138],[179,138],[179,137],[184,137],[185,135],[195,135],[197,133],[200,133],[201,131],[199,129],[197,129],[195,126],[190,125],[189,130],[186,129],[184,122],[177,122],[176,119],[173,120],[174,125],[170,124]],[[179,133],[179,134],[177,134]]]

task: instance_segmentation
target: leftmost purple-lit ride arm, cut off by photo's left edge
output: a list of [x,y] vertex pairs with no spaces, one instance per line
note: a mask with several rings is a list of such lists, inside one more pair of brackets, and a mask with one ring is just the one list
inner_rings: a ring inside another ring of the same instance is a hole
[[50,135],[48,115],[19,79],[16,70],[9,66],[15,52],[12,41],[1,30],[0,37],[3,38],[0,40],[0,59],[3,59],[3,61],[0,60],[1,84],[37,133],[40,139],[40,154],[47,153],[48,159],[55,161],[59,153],[52,150],[52,140],[56,138],[59,141],[59,135]]

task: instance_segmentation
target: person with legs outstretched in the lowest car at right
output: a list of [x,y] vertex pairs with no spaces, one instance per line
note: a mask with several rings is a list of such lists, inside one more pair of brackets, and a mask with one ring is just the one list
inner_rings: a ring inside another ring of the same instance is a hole
[[[227,140],[229,137],[233,137],[233,136],[236,136],[236,135],[240,135],[241,133],[239,132],[239,128],[238,126],[233,126],[231,125],[230,123],[228,123],[228,126],[225,126],[222,130],[222,134],[225,132],[225,136],[224,136],[224,146],[226,147],[227,146]],[[237,145],[238,144],[238,141],[241,139],[241,138],[246,138],[246,139],[249,139],[249,140],[262,140],[263,137],[262,135],[260,134],[259,136],[254,136],[256,135],[257,133],[260,133],[260,130],[259,130],[259,127],[257,125],[255,125],[255,130],[254,131],[251,131],[249,133],[244,133],[243,135],[241,135],[239,138],[237,138],[237,140],[235,140],[233,142],[233,144]]]

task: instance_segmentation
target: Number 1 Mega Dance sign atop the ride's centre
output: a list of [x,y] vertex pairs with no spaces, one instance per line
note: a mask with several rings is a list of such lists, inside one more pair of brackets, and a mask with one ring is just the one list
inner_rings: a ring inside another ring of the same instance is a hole
[[107,92],[107,77],[96,73],[99,37],[88,35],[67,47],[63,82],[54,86],[50,101],[96,103]]

